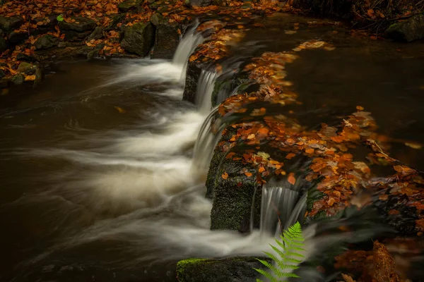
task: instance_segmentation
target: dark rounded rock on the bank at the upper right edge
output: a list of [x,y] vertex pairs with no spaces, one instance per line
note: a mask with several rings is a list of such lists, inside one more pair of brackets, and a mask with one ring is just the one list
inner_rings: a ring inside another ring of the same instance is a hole
[[404,22],[390,25],[385,36],[401,42],[424,38],[424,13],[408,18]]

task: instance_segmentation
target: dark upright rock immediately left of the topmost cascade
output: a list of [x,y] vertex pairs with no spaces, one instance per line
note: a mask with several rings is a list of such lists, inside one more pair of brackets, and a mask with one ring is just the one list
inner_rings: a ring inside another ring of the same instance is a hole
[[155,44],[153,58],[155,59],[172,59],[179,42],[177,23],[169,23],[159,13],[155,13],[151,22],[155,25]]

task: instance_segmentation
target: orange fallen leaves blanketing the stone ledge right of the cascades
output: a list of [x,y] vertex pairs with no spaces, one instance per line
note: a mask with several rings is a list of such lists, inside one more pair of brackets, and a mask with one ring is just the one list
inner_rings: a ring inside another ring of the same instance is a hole
[[[295,49],[334,49],[331,44],[316,41],[304,42],[300,46],[302,48]],[[387,138],[375,133],[377,124],[370,112],[357,106],[357,111],[344,116],[338,125],[322,123],[319,129],[314,130],[307,130],[290,118],[290,111],[288,115],[282,114],[283,109],[268,113],[271,105],[300,104],[298,95],[290,91],[290,82],[284,79],[285,63],[297,58],[290,53],[266,52],[246,66],[249,78],[260,82],[261,87],[257,92],[237,94],[220,104],[218,114],[224,121],[225,118],[241,114],[245,122],[230,125],[223,134],[232,134],[218,144],[218,149],[229,152],[226,156],[228,159],[253,166],[255,171],[240,173],[256,177],[259,184],[266,183],[270,176],[285,176],[289,183],[295,185],[297,179],[293,173],[285,170],[285,162],[298,155],[310,159],[310,171],[305,180],[312,182],[320,178],[317,190],[322,197],[313,203],[305,216],[313,218],[323,212],[326,216],[333,216],[352,204],[379,202],[388,208],[387,216],[407,216],[413,221],[408,233],[423,235],[424,180],[419,171],[401,164],[384,152],[387,145],[380,140]],[[256,104],[261,106],[256,107]],[[264,144],[279,152],[280,157],[262,152]],[[249,145],[254,149],[245,150],[242,154],[230,152],[240,145]],[[367,152],[365,159],[354,156],[355,149]],[[282,158],[281,153],[285,157]],[[377,178],[377,173],[372,173],[374,166],[391,167],[392,174]],[[222,177],[225,178],[225,173]],[[358,194],[363,190],[374,194],[365,200],[358,200]]]

